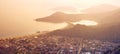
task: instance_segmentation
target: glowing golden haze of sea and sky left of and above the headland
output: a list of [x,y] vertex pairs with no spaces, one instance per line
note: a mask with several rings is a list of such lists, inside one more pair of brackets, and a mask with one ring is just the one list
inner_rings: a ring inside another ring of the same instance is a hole
[[[103,1],[0,0],[0,37],[22,36],[35,33],[36,31],[50,31],[62,28],[65,26],[64,23],[61,25],[34,21],[36,18],[48,16],[56,11],[80,13],[80,10],[91,6],[103,3],[119,6],[120,3],[119,0]],[[67,9],[63,9],[63,7]]]

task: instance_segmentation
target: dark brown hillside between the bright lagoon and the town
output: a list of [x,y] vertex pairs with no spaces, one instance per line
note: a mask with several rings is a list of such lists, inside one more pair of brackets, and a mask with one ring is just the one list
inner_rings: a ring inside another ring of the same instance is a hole
[[83,39],[95,39],[102,41],[120,41],[120,25],[113,26],[84,26],[74,25],[69,29],[55,30],[48,35],[66,36],[66,37],[77,37]]

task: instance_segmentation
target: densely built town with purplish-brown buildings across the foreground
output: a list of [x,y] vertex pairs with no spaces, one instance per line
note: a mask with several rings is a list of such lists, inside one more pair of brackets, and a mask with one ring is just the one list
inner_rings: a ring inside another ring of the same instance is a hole
[[120,54],[118,43],[32,35],[0,40],[0,54]]

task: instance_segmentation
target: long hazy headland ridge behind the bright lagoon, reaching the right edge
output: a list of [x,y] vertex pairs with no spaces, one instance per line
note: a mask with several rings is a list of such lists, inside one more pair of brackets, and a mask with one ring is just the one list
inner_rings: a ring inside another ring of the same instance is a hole
[[119,17],[120,17],[120,8],[113,11],[97,13],[97,14],[67,14],[63,12],[56,12],[50,16],[38,18],[36,19],[36,21],[63,23],[63,22],[78,22],[80,20],[92,20],[98,22],[99,24],[113,25],[113,24],[120,24]]

